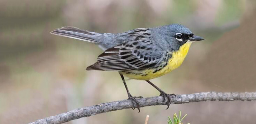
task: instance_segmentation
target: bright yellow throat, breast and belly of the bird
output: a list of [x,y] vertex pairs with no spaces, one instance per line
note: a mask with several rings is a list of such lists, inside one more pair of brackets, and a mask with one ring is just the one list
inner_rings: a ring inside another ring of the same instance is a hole
[[[126,77],[130,77],[131,79],[136,80],[150,80],[156,77],[160,77],[164,74],[169,73],[170,71],[177,69],[185,59],[188,54],[189,47],[192,42],[187,42],[183,44],[180,49],[176,52],[169,53],[172,54],[172,58],[170,58],[167,62],[167,65],[163,67],[161,70],[154,72],[156,69],[147,69],[147,70],[131,70],[120,72]],[[153,73],[154,72],[154,73]]]

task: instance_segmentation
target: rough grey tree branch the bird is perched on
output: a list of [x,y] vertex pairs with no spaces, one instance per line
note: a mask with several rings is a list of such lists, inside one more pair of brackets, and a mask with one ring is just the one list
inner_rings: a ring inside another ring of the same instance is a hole
[[[201,101],[252,101],[256,100],[256,92],[201,92],[193,94],[181,94],[171,100],[171,104],[201,102]],[[147,97],[138,99],[140,107],[152,106],[152,105],[166,105],[162,96]],[[83,107],[75,109],[66,113],[50,116],[44,119],[37,120],[29,124],[61,124],[71,120],[75,120],[81,117],[88,117],[104,112],[111,112],[122,109],[129,109],[133,107],[133,103],[130,100],[122,100],[115,102],[102,103],[98,105]]]

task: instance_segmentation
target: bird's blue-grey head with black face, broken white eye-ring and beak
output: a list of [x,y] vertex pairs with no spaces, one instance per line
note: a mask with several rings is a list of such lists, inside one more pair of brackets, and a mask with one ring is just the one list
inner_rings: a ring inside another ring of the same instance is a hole
[[181,24],[170,24],[159,27],[162,37],[167,41],[168,49],[178,50],[184,43],[205,40],[194,35],[187,27]]

